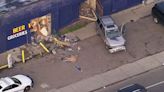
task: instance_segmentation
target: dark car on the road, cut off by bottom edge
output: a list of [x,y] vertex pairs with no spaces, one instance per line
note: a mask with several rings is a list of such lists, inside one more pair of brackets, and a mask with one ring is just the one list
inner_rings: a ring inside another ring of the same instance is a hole
[[132,84],[120,88],[117,92],[147,92],[146,88],[139,84]]

